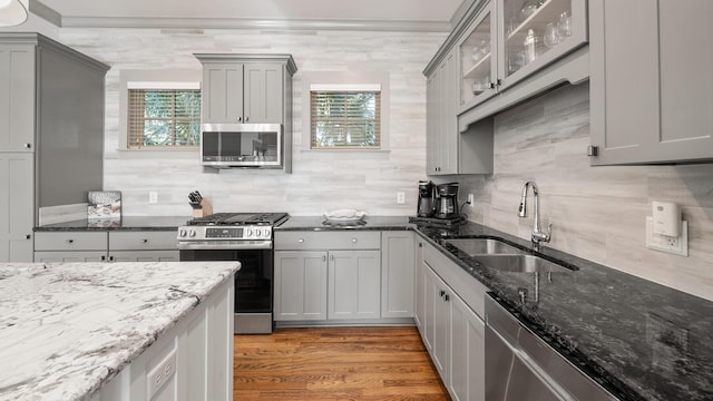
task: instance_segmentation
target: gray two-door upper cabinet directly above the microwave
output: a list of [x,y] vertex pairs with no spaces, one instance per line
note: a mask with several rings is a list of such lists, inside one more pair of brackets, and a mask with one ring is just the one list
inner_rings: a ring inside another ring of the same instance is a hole
[[203,123],[285,123],[296,71],[292,56],[195,56],[203,63]]

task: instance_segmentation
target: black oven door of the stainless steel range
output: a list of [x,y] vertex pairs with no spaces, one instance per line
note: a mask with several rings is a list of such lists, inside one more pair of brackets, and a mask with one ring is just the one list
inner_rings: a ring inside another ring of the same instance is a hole
[[240,262],[241,270],[235,274],[235,312],[272,312],[272,250],[183,250],[180,261]]

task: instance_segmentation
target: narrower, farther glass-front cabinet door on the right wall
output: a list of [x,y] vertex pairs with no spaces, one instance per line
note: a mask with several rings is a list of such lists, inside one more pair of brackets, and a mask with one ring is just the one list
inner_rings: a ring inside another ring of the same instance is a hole
[[494,52],[496,30],[492,3],[482,9],[468,31],[470,33],[460,42],[461,106],[478,104],[497,90],[498,58]]

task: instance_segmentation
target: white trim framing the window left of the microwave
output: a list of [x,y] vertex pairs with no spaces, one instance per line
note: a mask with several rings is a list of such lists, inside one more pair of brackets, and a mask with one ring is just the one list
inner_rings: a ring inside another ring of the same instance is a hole
[[[201,69],[172,69],[172,70],[121,70],[119,74],[119,121],[117,150],[139,154],[157,153],[186,153],[194,155],[201,150],[196,147],[128,147],[128,97],[129,89],[201,89],[203,71]],[[160,87],[147,87],[156,85]],[[169,87],[172,85],[177,88]],[[203,101],[203,100],[202,100]],[[202,106],[203,107],[203,106]]]

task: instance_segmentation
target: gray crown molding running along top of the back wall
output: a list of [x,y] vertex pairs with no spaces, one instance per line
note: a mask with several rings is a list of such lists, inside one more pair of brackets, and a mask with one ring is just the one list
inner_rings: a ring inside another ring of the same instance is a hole
[[[51,22],[51,21],[50,21]],[[243,18],[61,17],[61,28],[270,29],[450,32],[449,22],[368,20],[276,20]]]

